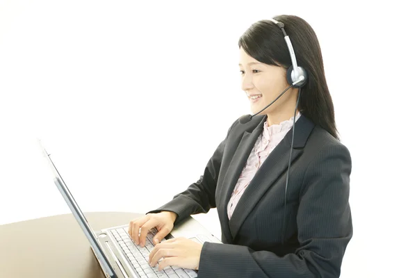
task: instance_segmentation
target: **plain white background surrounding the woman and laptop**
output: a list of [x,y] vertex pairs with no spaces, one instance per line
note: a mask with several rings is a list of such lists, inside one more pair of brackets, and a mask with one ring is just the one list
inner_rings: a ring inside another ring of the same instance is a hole
[[[239,36],[293,14],[318,35],[352,155],[341,277],[413,276],[415,15],[381,2],[1,0],[0,224],[70,213],[37,138],[83,211],[170,201],[250,113]],[[215,209],[195,218],[220,237]]]

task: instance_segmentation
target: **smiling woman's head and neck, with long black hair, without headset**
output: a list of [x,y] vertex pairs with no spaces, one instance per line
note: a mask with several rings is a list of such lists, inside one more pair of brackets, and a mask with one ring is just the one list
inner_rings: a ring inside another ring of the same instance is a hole
[[[288,16],[281,18],[283,18],[281,21],[286,21],[285,30],[288,37],[291,37],[292,44],[296,45],[293,51],[298,65],[302,65],[309,73],[309,79],[305,81],[303,93],[300,95],[297,111],[302,110],[306,117],[338,138],[332,97],[327,88],[316,34],[304,20],[299,22],[291,20]],[[297,28],[297,24],[300,28]],[[291,84],[288,82],[288,69],[291,72],[293,68],[291,51],[288,51],[283,32],[274,25],[270,20],[257,22],[240,37],[238,42],[242,90],[248,96],[262,96],[260,99],[255,99],[256,101],[251,101],[252,113],[261,110]],[[278,101],[265,109],[261,115],[270,114],[268,125],[288,120],[288,115],[293,113],[297,97],[298,89],[290,88]]]

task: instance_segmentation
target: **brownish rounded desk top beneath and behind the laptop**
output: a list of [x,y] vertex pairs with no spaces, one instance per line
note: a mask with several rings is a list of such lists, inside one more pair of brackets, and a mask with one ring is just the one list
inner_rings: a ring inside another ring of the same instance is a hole
[[[129,224],[139,213],[85,213],[95,231]],[[0,277],[104,278],[72,214],[0,226]]]

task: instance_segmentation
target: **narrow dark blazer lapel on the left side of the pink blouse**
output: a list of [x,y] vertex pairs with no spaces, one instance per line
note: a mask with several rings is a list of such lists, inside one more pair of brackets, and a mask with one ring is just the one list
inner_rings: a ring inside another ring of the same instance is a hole
[[229,163],[226,174],[224,174],[224,179],[222,181],[222,187],[220,189],[220,199],[218,206],[218,214],[220,218],[220,223],[222,224],[222,231],[224,237],[227,239],[228,243],[231,243],[232,237],[229,230],[229,217],[227,216],[227,203],[230,200],[231,193],[234,190],[240,173],[245,166],[247,158],[252,151],[252,148],[255,145],[256,139],[259,137],[263,130],[263,122],[265,122],[266,116],[263,117],[263,120],[255,127],[255,129],[250,131],[245,131],[236,152],[234,153],[233,158]]

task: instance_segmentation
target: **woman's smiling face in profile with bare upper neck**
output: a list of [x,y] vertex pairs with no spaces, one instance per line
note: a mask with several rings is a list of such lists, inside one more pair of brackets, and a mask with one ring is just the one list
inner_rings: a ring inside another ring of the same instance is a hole
[[[252,113],[258,113],[268,106],[287,87],[286,69],[275,65],[266,65],[249,56],[240,47],[240,74],[242,76],[242,90],[247,94]],[[274,104],[266,108],[260,115],[294,111],[297,95],[291,88]]]

